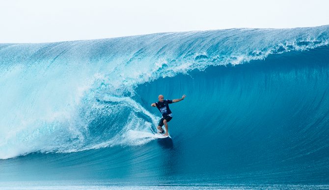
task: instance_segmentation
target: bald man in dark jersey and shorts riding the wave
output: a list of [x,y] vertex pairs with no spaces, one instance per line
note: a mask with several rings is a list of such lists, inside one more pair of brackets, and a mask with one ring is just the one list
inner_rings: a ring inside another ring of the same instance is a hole
[[162,126],[165,127],[165,134],[164,136],[168,136],[168,124],[167,122],[169,122],[172,119],[172,113],[169,109],[169,104],[171,103],[175,103],[175,102],[179,102],[182,101],[184,98],[186,97],[186,95],[183,95],[182,98],[180,99],[166,99],[164,100],[164,96],[163,95],[159,95],[159,101],[156,103],[152,103],[151,106],[152,107],[157,107],[159,109],[159,111],[162,114],[162,118],[159,121],[158,124],[158,130],[160,131],[160,133],[164,133],[164,129],[162,128]]

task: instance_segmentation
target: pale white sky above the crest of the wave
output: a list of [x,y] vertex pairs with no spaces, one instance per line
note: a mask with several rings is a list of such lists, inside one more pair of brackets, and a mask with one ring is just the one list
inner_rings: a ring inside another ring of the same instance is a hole
[[329,24],[329,0],[0,0],[0,43]]

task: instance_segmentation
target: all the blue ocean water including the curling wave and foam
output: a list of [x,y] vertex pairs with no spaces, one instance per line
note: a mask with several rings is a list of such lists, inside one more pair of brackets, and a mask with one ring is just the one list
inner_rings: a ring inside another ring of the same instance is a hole
[[329,25],[0,44],[0,187],[326,189],[328,81]]

